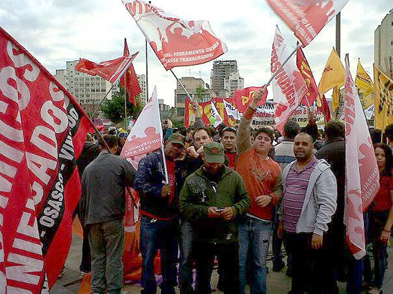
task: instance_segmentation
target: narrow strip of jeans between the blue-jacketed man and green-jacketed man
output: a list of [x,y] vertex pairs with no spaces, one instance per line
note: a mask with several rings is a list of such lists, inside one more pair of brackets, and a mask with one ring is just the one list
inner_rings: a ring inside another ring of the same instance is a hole
[[180,292],[190,293],[193,283],[193,273],[191,268],[191,249],[193,246],[193,226],[186,219],[180,223]]

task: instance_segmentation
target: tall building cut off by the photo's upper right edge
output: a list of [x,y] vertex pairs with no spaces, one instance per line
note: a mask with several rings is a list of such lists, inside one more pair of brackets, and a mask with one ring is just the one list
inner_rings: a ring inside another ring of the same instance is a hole
[[374,64],[392,77],[393,67],[393,9],[374,32]]

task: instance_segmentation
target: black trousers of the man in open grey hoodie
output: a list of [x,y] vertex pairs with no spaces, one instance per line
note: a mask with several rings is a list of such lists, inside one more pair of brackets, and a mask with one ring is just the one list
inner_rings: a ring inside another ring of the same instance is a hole
[[324,238],[320,249],[311,247],[313,233],[290,233],[284,235],[286,248],[292,256],[292,294],[333,293],[333,266],[329,262],[332,252],[329,240]]

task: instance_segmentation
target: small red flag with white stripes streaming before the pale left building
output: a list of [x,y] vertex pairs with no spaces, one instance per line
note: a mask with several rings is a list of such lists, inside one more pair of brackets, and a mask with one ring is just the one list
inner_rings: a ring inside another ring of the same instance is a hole
[[139,52],[100,63],[91,62],[87,59],[80,59],[75,69],[89,75],[99,75],[111,84],[115,84],[132,65],[132,60],[134,60],[138,53]]

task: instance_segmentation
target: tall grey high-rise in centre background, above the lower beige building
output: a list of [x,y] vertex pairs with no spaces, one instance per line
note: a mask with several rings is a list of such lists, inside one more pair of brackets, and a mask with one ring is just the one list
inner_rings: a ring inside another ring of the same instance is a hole
[[210,74],[211,89],[218,91],[225,89],[224,81],[231,73],[238,71],[238,63],[236,60],[214,60],[213,69]]

